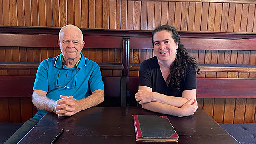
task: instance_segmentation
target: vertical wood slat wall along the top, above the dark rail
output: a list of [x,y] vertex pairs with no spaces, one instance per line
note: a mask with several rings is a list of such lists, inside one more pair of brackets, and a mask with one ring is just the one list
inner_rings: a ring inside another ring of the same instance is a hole
[[[256,32],[256,1],[0,0],[0,25]],[[245,1],[243,1],[245,2]]]

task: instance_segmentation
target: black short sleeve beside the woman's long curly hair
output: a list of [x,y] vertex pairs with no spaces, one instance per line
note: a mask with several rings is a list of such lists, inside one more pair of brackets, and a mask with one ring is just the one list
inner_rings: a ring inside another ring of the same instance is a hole
[[196,70],[194,66],[188,65],[182,91],[196,89]]

